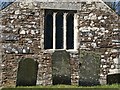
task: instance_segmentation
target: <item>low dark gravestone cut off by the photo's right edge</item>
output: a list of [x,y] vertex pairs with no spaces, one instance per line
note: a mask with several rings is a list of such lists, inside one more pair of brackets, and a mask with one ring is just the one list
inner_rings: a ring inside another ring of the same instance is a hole
[[120,73],[107,75],[107,84],[120,84]]

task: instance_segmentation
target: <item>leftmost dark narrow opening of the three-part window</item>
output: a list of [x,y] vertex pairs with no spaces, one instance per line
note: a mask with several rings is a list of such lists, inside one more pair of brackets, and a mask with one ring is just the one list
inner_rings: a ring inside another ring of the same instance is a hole
[[52,14],[47,14],[45,16],[45,30],[44,30],[44,48],[53,48],[53,16]]

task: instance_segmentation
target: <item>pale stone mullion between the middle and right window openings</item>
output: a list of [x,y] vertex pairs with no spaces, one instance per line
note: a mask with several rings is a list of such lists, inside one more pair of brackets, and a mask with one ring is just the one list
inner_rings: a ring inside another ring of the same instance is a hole
[[64,13],[64,16],[63,16],[63,18],[64,18],[64,20],[63,20],[63,28],[64,28],[64,29],[63,29],[63,30],[64,30],[64,37],[63,37],[63,38],[64,38],[64,40],[63,40],[64,45],[63,45],[63,48],[64,48],[64,49],[66,49],[66,45],[67,45],[67,44],[66,44],[66,36],[67,36],[67,35],[66,35],[66,33],[67,33],[66,17],[67,17],[67,13]]

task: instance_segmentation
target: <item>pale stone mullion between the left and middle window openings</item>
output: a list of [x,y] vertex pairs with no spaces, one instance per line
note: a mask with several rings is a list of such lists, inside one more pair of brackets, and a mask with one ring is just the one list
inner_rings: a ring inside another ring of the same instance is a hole
[[57,13],[53,13],[53,50],[55,50],[55,37],[56,37],[56,14]]

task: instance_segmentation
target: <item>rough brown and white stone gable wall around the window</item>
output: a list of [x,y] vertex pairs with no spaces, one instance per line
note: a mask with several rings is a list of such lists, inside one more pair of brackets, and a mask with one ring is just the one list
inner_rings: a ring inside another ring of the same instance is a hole
[[100,84],[107,84],[107,75],[120,74],[120,17],[105,3],[14,2],[0,11],[0,86],[16,85],[18,64],[23,58],[39,63],[37,85],[52,85],[54,51],[44,49],[46,9],[77,11],[77,51],[69,51],[72,85],[79,85],[83,78],[81,71],[87,65],[80,67],[89,54],[93,56],[90,60],[97,57],[100,62],[96,73]]

